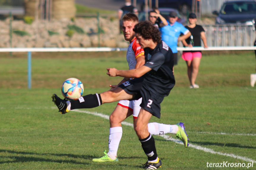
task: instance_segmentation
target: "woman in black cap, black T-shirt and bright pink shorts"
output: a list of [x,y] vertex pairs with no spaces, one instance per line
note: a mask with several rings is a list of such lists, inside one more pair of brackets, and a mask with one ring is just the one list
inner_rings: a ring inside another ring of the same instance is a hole
[[[200,47],[202,38],[204,48],[207,48],[205,31],[201,25],[196,25],[196,15],[194,13],[189,14],[188,21],[189,25],[185,27],[190,31],[191,36],[182,41],[184,47]],[[187,75],[190,81],[190,88],[199,88],[199,85],[195,84],[195,80],[198,75],[201,58],[201,51],[183,51],[182,53],[182,59],[187,63]]]

